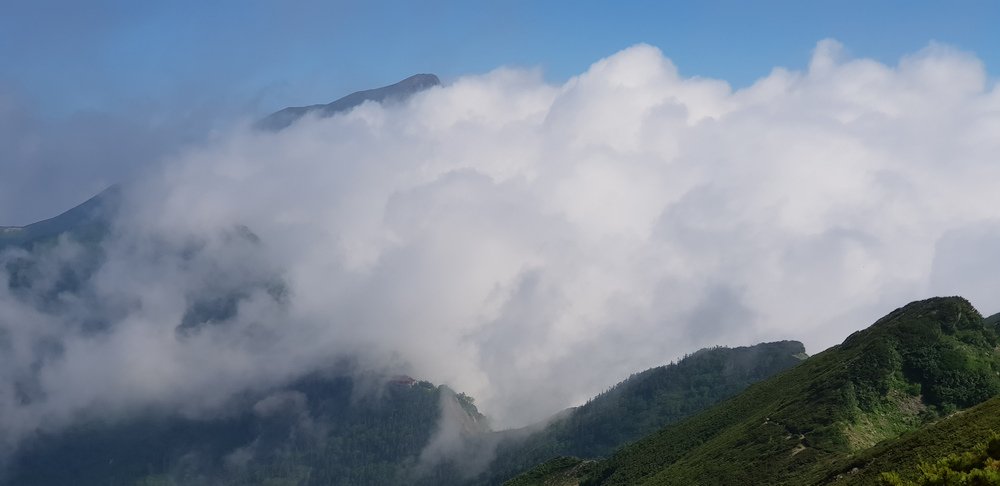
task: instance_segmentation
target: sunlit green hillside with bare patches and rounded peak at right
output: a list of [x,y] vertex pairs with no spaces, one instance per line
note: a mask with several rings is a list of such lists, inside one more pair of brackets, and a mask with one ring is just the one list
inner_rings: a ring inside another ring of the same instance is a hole
[[587,485],[820,482],[875,444],[1000,392],[996,345],[995,331],[966,300],[914,302],[788,372],[619,450],[579,479]]

